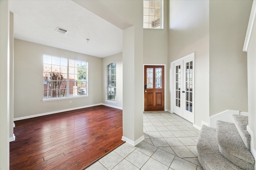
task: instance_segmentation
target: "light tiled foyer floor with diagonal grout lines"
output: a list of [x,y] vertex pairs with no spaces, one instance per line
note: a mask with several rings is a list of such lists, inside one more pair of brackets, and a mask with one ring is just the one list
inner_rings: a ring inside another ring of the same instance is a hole
[[166,111],[144,112],[145,140],[124,143],[86,170],[202,170],[197,159],[199,130]]

